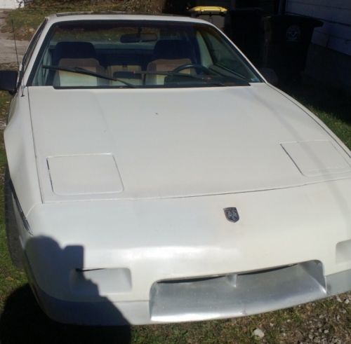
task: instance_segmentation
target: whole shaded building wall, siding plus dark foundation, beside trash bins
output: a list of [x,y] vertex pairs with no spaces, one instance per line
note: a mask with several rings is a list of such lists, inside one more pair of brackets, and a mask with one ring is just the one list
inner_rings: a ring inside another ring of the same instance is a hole
[[314,29],[305,74],[351,94],[351,0],[286,0],[286,13],[324,22]]

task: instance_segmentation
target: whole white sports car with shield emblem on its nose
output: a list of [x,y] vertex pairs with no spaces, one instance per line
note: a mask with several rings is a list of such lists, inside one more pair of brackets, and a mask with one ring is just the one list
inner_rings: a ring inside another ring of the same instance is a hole
[[239,317],[351,289],[349,149],[208,22],[53,15],[0,88],[11,254],[52,319]]

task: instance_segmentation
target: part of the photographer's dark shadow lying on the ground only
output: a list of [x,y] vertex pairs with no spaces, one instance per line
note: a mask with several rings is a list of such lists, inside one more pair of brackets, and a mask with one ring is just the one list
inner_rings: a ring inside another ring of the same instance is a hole
[[8,297],[0,318],[1,344],[130,342],[130,326],[71,326],[53,322],[39,308],[29,284]]

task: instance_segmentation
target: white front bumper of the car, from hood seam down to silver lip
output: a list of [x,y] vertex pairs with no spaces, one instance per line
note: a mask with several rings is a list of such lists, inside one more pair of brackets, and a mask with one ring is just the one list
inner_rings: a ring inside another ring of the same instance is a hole
[[[345,179],[47,203],[28,216],[28,275],[45,312],[74,324],[219,319],[314,301],[351,289],[350,189]],[[225,207],[237,207],[237,223]]]

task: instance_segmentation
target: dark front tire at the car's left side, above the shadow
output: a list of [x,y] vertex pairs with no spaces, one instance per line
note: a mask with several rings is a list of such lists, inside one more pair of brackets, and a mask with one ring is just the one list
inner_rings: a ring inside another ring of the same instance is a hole
[[22,246],[18,233],[18,226],[15,219],[15,209],[13,207],[13,194],[11,189],[10,174],[6,168],[4,179],[4,203],[5,203],[5,225],[8,252],[13,265],[22,270]]

